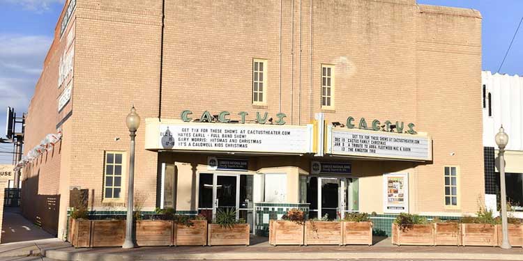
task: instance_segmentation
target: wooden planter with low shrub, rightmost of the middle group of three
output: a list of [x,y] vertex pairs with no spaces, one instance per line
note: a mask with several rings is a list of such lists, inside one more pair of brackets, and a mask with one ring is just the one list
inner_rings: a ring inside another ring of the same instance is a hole
[[343,245],[372,245],[372,222],[367,213],[349,213],[343,219]]

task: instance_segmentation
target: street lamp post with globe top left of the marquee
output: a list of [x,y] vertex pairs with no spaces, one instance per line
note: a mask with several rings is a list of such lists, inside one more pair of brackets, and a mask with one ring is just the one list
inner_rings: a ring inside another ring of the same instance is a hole
[[127,184],[127,222],[126,222],[126,240],[123,242],[122,248],[134,248],[135,241],[132,235],[132,206],[134,201],[134,180],[135,180],[135,137],[136,130],[140,125],[140,117],[136,113],[133,105],[130,113],[126,118],[126,124],[129,128],[130,136],[130,156],[129,156],[129,180]]

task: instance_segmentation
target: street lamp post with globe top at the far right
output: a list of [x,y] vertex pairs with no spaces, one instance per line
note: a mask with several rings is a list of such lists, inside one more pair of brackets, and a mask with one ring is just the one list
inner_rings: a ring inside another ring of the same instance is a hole
[[501,248],[511,248],[508,242],[508,222],[507,222],[507,200],[506,200],[506,186],[505,186],[505,159],[503,154],[505,153],[505,147],[508,143],[508,135],[503,129],[503,125],[499,128],[498,134],[496,134],[496,143],[499,147],[499,182],[501,183],[501,229],[503,230],[503,241],[501,242]]

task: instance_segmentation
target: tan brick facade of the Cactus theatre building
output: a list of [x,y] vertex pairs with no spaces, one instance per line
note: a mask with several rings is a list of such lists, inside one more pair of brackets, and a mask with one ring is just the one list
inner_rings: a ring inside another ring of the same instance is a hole
[[[434,161],[353,161],[353,172],[365,177],[362,186],[381,186],[382,173],[407,170],[411,212],[476,212],[485,187],[475,98],[480,97],[481,17],[475,10],[414,0],[165,1],[162,38],[160,0],[77,0],[71,21],[73,114],[62,126],[63,147],[24,170],[25,181],[38,180],[24,189],[59,196],[59,236],[70,187],[89,189],[90,207],[124,206],[123,200],[103,200],[103,161],[105,150],[129,150],[125,117],[131,104],[142,119],[179,119],[190,109],[195,115],[282,111],[289,125],[304,125],[317,112],[324,112],[327,122],[348,116],[415,122],[434,140]],[[56,131],[63,42],[55,39],[31,100],[26,148]],[[251,102],[253,58],[267,60],[266,106]],[[335,66],[333,110],[322,111],[319,104],[321,64]],[[150,210],[158,205],[159,156],[144,150],[144,139],[139,129],[135,189],[146,191]],[[274,159],[279,160],[309,166],[308,159]],[[444,207],[448,165],[460,166],[458,209]],[[381,196],[362,190],[361,198],[378,198],[362,210],[379,212]]]

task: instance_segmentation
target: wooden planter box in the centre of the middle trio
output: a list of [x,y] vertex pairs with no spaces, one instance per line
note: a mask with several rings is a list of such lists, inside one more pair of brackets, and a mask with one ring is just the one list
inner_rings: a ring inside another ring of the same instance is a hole
[[307,245],[342,245],[343,230],[340,221],[306,221],[305,240]]

